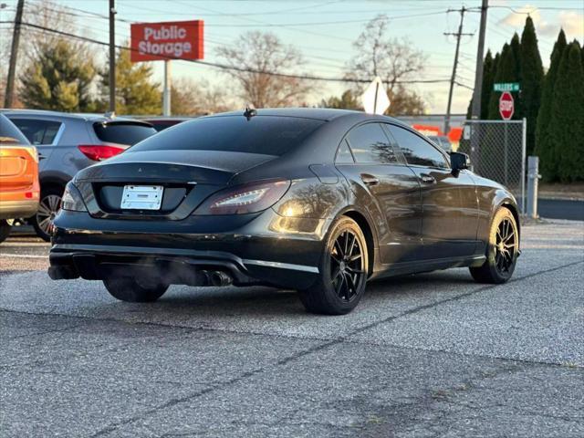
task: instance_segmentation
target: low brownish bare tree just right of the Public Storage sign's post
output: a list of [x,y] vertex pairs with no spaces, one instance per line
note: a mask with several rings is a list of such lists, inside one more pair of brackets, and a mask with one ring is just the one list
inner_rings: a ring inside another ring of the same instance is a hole
[[172,84],[172,114],[200,116],[227,110],[235,110],[235,103],[226,91],[209,85],[206,80],[195,82],[191,78],[179,78]]

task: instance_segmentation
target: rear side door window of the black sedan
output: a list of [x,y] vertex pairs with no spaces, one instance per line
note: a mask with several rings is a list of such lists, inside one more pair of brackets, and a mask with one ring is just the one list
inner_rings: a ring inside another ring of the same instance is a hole
[[390,141],[379,123],[367,123],[349,131],[349,145],[356,162],[398,162]]

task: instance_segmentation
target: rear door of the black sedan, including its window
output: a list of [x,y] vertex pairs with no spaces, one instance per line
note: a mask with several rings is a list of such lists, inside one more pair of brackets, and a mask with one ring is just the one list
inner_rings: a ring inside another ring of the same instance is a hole
[[349,131],[339,146],[336,165],[353,191],[370,193],[360,202],[379,218],[378,244],[383,264],[417,259],[422,251],[420,184],[408,166],[400,162],[379,123],[366,123]]

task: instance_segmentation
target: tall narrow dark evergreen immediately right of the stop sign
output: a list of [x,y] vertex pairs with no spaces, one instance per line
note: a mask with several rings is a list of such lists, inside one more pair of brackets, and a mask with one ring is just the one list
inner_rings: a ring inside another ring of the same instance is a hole
[[523,117],[527,118],[527,155],[532,155],[536,144],[537,111],[541,100],[544,68],[537,48],[536,29],[530,16],[527,16],[526,26],[521,34],[519,65],[521,93],[518,106]]

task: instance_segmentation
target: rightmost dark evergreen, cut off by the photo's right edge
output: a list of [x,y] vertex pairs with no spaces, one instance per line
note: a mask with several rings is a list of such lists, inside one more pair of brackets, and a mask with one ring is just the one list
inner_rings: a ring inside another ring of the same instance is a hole
[[584,67],[578,41],[562,54],[549,120],[549,135],[562,183],[584,181]]

